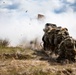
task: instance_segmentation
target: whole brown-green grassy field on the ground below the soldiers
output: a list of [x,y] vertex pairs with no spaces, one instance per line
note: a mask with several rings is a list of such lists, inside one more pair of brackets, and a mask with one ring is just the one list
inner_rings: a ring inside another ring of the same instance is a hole
[[41,51],[1,47],[0,75],[76,75],[76,63],[62,65]]

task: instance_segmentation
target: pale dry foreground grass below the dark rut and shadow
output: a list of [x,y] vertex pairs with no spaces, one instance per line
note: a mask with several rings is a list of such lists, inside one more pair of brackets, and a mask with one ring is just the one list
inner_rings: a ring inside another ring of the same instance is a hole
[[0,61],[0,75],[76,75],[76,64],[50,65],[40,60]]

